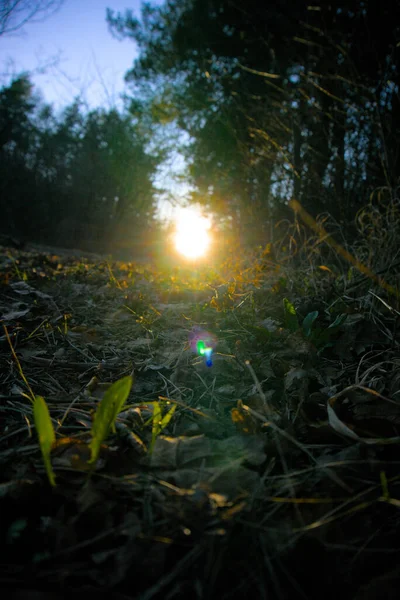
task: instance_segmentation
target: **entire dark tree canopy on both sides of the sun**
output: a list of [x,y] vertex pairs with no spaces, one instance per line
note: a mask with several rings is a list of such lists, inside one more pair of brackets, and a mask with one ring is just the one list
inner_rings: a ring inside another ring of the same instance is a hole
[[190,200],[244,244],[273,241],[292,198],[353,233],[374,194],[396,195],[395,0],[168,0],[107,20],[139,49],[123,110],[77,99],[56,115],[26,74],[0,90],[7,233],[99,249],[133,239],[154,227],[157,169],[179,151]]

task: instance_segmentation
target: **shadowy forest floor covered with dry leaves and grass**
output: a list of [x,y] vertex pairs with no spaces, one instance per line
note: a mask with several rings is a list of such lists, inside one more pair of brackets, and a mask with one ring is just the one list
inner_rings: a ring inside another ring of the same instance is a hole
[[[8,598],[398,597],[396,295],[268,247],[196,268],[0,250]],[[128,375],[89,462],[97,407]]]

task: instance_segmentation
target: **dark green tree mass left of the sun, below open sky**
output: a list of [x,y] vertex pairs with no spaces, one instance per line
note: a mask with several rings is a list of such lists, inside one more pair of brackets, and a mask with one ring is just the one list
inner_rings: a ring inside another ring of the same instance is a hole
[[77,100],[56,116],[28,75],[16,78],[0,90],[2,232],[96,251],[144,243],[161,160],[148,143],[128,110],[85,112]]

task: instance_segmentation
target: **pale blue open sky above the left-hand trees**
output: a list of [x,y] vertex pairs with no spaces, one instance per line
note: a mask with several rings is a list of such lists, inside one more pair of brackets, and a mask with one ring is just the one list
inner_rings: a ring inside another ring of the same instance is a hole
[[90,108],[110,107],[124,89],[124,75],[137,50],[132,40],[112,37],[106,9],[128,8],[140,16],[140,5],[141,0],[64,0],[42,22],[0,37],[0,84],[26,70],[33,73],[44,99],[57,108],[77,95]]

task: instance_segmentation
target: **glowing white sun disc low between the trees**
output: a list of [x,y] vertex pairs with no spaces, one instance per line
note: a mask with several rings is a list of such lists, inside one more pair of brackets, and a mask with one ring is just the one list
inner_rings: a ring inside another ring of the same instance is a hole
[[210,247],[210,220],[195,208],[181,208],[175,217],[174,245],[186,258],[200,258]]

